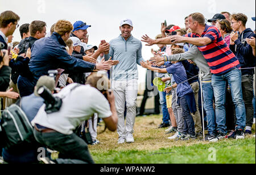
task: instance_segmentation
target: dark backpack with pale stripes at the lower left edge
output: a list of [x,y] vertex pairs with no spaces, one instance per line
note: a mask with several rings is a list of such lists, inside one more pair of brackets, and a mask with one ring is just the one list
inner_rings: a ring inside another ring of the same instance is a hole
[[[17,105],[19,104],[19,105]],[[34,140],[33,127],[26,114],[20,108],[20,101],[2,112],[0,128],[1,143],[5,148],[31,143]]]

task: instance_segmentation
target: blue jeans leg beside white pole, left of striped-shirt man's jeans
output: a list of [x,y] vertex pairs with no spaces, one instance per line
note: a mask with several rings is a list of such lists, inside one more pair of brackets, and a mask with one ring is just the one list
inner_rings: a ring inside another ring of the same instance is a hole
[[203,82],[204,109],[207,113],[208,132],[210,135],[216,135],[216,117],[213,108],[213,87],[211,82]]

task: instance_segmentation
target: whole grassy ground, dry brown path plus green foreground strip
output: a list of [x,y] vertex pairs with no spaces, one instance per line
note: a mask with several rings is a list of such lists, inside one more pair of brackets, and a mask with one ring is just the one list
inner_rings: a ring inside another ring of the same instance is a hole
[[[89,146],[94,161],[97,164],[255,164],[255,138],[252,136],[218,143],[199,139],[172,141],[167,139],[171,135],[166,135],[164,129],[156,129],[161,120],[158,115],[137,118],[133,144],[118,145],[116,132],[99,134],[98,140],[102,143]],[[255,125],[253,131],[255,133]]]

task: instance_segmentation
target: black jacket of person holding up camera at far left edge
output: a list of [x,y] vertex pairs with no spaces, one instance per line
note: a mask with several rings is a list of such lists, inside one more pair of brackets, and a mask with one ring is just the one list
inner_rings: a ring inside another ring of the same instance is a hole
[[10,83],[11,68],[9,66],[2,66],[0,69],[0,91],[6,91]]

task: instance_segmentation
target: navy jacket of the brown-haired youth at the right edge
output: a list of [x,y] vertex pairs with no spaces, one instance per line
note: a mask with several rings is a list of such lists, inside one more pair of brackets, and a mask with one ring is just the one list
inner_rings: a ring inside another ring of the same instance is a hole
[[[230,45],[230,49],[236,55],[240,62],[241,68],[252,68],[255,67],[255,56],[253,55],[253,48],[246,42],[246,38],[255,38],[255,34],[250,28],[246,28],[242,34],[239,35],[235,41],[235,45]],[[253,75],[254,69],[242,69],[242,75]]]

